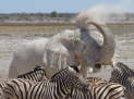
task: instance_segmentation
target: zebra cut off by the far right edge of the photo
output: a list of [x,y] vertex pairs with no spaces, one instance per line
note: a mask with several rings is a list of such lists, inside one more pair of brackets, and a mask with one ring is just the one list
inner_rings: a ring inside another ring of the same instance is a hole
[[134,72],[124,63],[118,62],[113,65],[110,82],[122,84],[126,88],[126,96],[134,98]]

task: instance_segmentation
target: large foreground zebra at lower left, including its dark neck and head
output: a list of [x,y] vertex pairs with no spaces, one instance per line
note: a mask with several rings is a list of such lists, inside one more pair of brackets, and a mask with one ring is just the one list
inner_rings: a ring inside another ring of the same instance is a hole
[[5,99],[61,99],[70,95],[74,88],[87,91],[87,86],[80,78],[80,70],[75,65],[54,74],[51,79],[32,82],[14,78],[5,82],[3,87]]

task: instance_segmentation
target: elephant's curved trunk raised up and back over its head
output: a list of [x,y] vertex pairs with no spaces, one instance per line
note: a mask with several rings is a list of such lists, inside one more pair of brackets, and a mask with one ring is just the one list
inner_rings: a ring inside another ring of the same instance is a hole
[[97,63],[103,64],[103,65],[110,65],[112,64],[112,58],[114,54],[114,48],[115,48],[115,42],[114,42],[114,37],[110,32],[103,30],[103,28],[100,27],[100,25],[94,23],[94,22],[88,22],[87,24],[92,24],[96,26],[96,28],[101,33],[103,36],[103,45],[100,49],[100,58]]

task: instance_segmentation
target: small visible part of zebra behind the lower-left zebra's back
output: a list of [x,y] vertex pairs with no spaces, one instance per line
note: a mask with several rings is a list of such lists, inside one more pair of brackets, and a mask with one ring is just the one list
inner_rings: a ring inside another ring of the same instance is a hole
[[47,75],[46,75],[46,71],[44,66],[36,66],[32,71],[25,74],[19,75],[17,78],[25,78],[25,79],[31,79],[35,82],[41,82],[44,79],[47,79]]

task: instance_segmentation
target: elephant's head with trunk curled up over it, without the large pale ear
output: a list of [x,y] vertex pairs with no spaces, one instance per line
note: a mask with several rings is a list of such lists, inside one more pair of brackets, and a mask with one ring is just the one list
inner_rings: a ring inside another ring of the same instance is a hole
[[[114,38],[106,28],[102,28],[96,22],[89,22],[88,17],[77,16],[76,25],[80,28],[80,40],[73,39],[62,40],[62,44],[69,49],[72,58],[75,58],[82,67],[82,73],[86,73],[87,69],[100,70],[101,65],[112,64],[114,53]],[[89,34],[89,25],[95,26],[103,37],[103,44],[99,45]],[[73,49],[73,50],[72,50]]]

